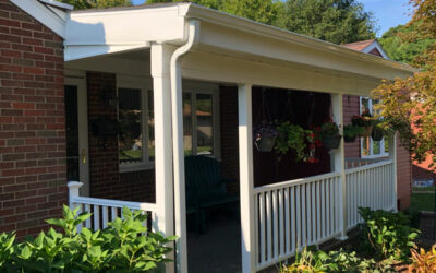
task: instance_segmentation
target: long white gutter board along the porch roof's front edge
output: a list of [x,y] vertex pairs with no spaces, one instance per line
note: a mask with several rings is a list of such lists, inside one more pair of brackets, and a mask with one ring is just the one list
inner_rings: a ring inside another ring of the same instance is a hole
[[[301,46],[305,48],[312,49],[314,52],[317,51],[317,55],[324,52],[326,56],[330,56],[334,58],[346,58],[349,60],[354,60],[354,61],[363,61],[362,64],[364,63],[372,63],[375,66],[382,66],[386,67],[388,69],[393,69],[397,71],[402,71],[404,74],[412,74],[415,72],[415,69],[412,67],[391,61],[388,59],[383,59],[378,58],[377,56],[372,56],[367,54],[362,54],[349,48],[344,48],[328,41],[319,40],[313,37],[308,37],[305,35],[292,33],[286,29],[281,29],[275,26],[269,26],[266,24],[262,24],[258,22],[254,22],[252,20],[234,16],[231,14],[227,14],[220,11],[215,11],[210,10],[197,4],[190,4],[189,10],[186,12],[186,17],[193,17],[193,19],[199,19],[202,22],[208,22],[209,24],[218,25],[221,26],[222,28],[231,28],[235,29],[235,33],[233,36],[237,37],[239,34],[243,33],[244,36],[247,37],[247,35],[252,35],[252,38],[249,39],[247,41],[250,44],[255,44],[257,41],[257,38],[263,36],[264,39],[268,40],[269,43],[277,43],[277,41],[282,41],[287,44],[288,46]],[[204,35],[204,24],[202,24],[202,33],[201,35]],[[226,46],[228,44],[228,40],[226,43],[222,43],[223,39],[216,40],[216,45],[218,47],[220,46]],[[201,40],[202,43],[202,40]],[[283,45],[284,45],[283,44]],[[246,48],[246,45],[243,47]],[[245,49],[241,47],[239,50],[240,51],[245,51]],[[250,48],[250,47],[249,47]],[[263,45],[263,48],[265,51],[274,51],[270,47]]]

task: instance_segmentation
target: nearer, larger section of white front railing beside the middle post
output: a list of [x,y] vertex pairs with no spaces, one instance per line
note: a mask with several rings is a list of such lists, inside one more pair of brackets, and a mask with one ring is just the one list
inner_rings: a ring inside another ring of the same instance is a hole
[[340,174],[254,189],[257,270],[340,235]]

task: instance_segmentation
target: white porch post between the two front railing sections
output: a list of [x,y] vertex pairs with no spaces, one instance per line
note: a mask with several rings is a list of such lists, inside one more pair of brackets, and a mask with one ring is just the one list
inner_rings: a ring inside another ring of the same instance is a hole
[[[343,136],[343,103],[342,94],[331,94],[331,109],[334,121],[339,126],[339,133]],[[341,228],[341,236],[339,239],[347,239],[347,181],[346,181],[346,153],[343,138],[339,149],[331,151],[334,159],[334,170],[341,174],[341,186],[339,187],[339,225]]]

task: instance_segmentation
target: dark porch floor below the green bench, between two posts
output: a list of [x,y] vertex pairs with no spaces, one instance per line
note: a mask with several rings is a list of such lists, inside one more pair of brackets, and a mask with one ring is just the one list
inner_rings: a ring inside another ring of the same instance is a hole
[[226,211],[211,212],[207,230],[187,233],[190,273],[241,272],[241,226]]

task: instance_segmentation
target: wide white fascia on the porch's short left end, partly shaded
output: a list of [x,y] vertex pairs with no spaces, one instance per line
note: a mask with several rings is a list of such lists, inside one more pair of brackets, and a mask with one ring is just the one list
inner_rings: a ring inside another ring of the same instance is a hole
[[92,57],[150,43],[181,43],[184,35],[185,19],[174,4],[72,12],[66,22],[65,60],[84,58],[86,51]]

